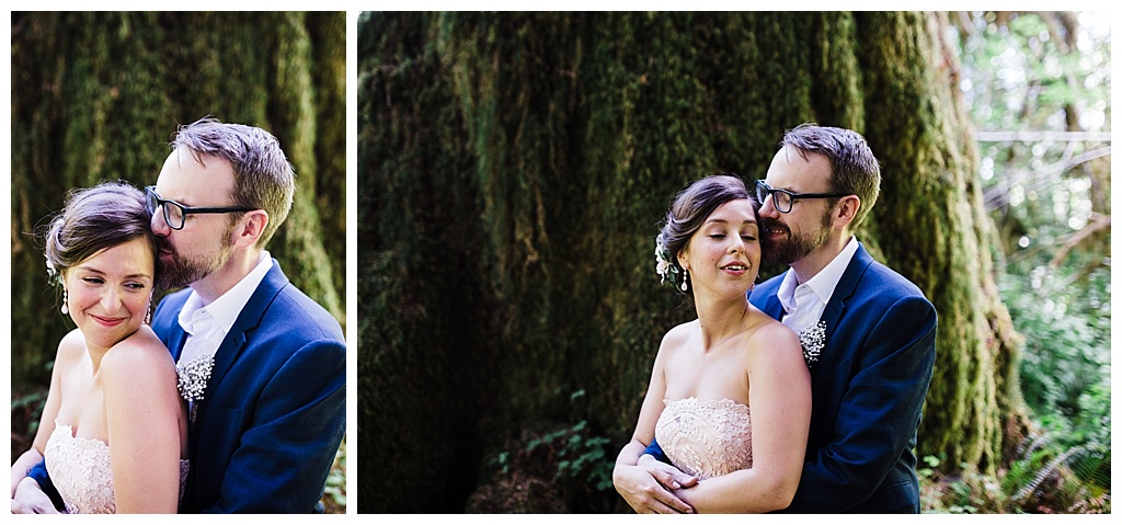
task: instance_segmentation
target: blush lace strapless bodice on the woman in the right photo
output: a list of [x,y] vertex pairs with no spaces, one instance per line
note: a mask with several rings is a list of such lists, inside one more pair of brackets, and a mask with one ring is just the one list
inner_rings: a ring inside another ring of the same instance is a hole
[[654,436],[663,452],[700,479],[752,467],[748,407],[732,399],[666,399]]

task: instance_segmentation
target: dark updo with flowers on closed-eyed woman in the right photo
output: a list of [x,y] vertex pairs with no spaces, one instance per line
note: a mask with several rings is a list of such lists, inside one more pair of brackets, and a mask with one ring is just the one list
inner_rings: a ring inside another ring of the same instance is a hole
[[758,211],[760,206],[748,193],[744,181],[733,173],[701,178],[682,190],[674,199],[662,231],[659,232],[655,254],[660,261],[659,273],[664,280],[670,280],[675,289],[686,292],[682,289],[683,270],[678,264],[678,254],[686,249],[690,237],[693,237],[714,210],[738,199],[752,201],[753,211]]

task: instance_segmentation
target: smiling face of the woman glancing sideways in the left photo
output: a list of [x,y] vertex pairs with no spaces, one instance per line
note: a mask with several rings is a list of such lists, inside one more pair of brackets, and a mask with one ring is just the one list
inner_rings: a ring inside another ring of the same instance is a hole
[[136,332],[151,300],[155,256],[142,239],[105,248],[66,270],[66,306],[91,349]]

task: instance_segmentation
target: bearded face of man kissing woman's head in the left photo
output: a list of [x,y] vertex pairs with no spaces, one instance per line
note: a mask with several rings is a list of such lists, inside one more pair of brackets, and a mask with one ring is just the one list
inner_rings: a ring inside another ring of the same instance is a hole
[[[160,197],[191,208],[230,206],[233,167],[229,160],[201,156],[186,148],[172,151],[156,183]],[[220,270],[232,251],[233,222],[229,214],[188,213],[182,229],[172,229],[157,210],[151,230],[159,246],[159,285],[187,286]]]

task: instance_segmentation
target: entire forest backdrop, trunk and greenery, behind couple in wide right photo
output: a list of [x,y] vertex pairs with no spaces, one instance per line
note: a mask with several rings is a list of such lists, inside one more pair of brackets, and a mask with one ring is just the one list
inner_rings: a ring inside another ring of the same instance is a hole
[[804,121],[867,137],[858,237],[939,312],[925,512],[1110,512],[1107,13],[358,26],[359,512],[628,512],[613,460],[695,315],[657,222]]

